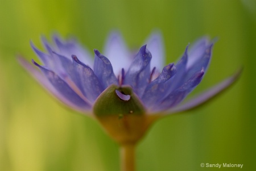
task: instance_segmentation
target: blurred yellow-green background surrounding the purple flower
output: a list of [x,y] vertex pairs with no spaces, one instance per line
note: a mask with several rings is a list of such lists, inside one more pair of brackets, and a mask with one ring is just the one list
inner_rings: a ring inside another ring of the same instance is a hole
[[43,49],[40,36],[50,40],[54,32],[76,36],[93,54],[113,29],[130,48],[159,29],[166,64],[197,38],[218,37],[193,94],[243,66],[240,80],[214,101],[159,120],[138,145],[138,170],[218,170],[200,167],[207,162],[256,170],[255,0],[0,3],[0,170],[119,170],[118,145],[99,124],[61,106],[16,61],[39,61],[29,41]]

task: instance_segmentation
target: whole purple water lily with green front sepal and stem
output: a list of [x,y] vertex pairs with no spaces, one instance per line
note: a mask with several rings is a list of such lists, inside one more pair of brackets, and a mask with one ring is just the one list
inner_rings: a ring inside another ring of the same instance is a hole
[[122,147],[123,170],[134,170],[134,146],[160,117],[194,109],[237,80],[240,71],[204,93],[182,103],[201,82],[212,57],[208,37],[187,46],[179,61],[166,66],[162,36],[146,40],[137,53],[127,49],[118,32],[110,34],[103,53],[88,49],[76,40],[42,39],[46,52],[31,42],[43,63],[22,57],[19,62],[59,101],[96,118]]

